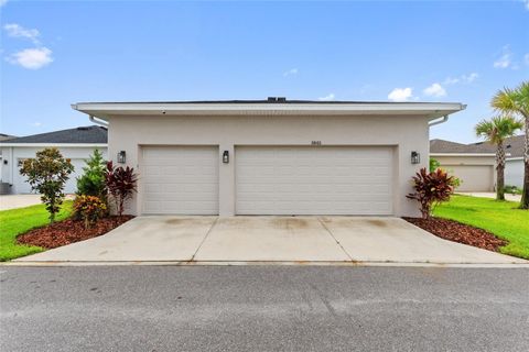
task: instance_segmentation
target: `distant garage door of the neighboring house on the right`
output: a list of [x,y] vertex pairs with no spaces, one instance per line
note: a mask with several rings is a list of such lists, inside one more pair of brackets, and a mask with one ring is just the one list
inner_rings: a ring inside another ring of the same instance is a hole
[[444,168],[461,179],[458,191],[494,190],[493,165],[446,165]]

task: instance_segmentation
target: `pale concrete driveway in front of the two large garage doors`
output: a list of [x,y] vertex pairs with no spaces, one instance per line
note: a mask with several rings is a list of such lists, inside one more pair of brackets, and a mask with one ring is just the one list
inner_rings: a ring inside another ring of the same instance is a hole
[[139,217],[17,262],[527,263],[382,217]]

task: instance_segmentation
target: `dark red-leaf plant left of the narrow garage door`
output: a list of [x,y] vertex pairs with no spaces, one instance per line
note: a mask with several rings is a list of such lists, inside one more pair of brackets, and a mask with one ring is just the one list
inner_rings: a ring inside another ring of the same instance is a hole
[[108,193],[116,202],[116,210],[119,216],[123,215],[125,201],[137,191],[138,175],[132,167],[114,167],[112,162],[107,163],[105,173]]

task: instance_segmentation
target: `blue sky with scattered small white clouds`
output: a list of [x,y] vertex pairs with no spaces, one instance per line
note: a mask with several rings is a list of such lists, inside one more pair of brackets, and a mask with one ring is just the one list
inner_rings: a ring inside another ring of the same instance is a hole
[[473,142],[529,78],[529,1],[1,3],[0,132],[89,124],[77,101],[458,101],[432,138]]

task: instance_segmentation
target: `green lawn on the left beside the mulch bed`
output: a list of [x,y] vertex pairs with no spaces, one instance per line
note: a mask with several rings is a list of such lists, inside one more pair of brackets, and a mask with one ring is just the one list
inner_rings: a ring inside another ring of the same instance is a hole
[[[56,220],[72,215],[72,200],[63,204]],[[44,205],[0,211],[0,261],[9,261],[44,251],[40,246],[15,244],[17,235],[50,222]]]

